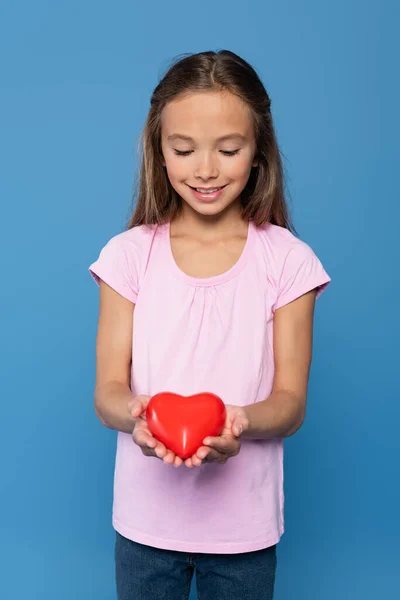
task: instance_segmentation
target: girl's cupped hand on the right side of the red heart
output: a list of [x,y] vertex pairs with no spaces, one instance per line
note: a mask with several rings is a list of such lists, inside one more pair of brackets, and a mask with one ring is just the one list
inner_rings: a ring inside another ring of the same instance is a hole
[[227,404],[224,427],[218,437],[207,437],[203,440],[196,454],[185,460],[189,468],[199,467],[204,462],[224,464],[240,451],[240,436],[249,427],[249,420],[242,406]]

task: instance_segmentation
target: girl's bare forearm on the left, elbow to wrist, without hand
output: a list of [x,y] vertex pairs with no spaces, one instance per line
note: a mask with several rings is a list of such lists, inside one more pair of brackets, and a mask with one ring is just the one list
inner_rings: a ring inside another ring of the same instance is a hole
[[119,381],[109,381],[95,389],[95,411],[108,429],[132,433],[135,420],[128,410],[133,394],[129,387]]

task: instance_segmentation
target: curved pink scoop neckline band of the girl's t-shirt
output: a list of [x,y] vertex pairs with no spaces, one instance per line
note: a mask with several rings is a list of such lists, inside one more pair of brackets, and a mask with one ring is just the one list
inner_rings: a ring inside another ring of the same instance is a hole
[[171,223],[170,222],[166,223],[165,227],[163,229],[164,229],[163,239],[164,239],[164,243],[166,246],[166,255],[168,257],[168,261],[171,264],[171,268],[172,268],[175,276],[178,277],[179,279],[181,279],[182,281],[186,282],[189,285],[197,286],[197,287],[207,287],[207,286],[215,286],[215,285],[219,285],[221,283],[225,283],[225,282],[229,281],[230,279],[233,279],[234,277],[236,277],[240,273],[240,271],[242,271],[242,269],[244,268],[244,266],[247,262],[248,255],[250,252],[250,247],[253,242],[254,224],[253,224],[253,221],[249,221],[246,243],[245,243],[242,253],[239,256],[236,263],[234,265],[232,265],[232,267],[230,269],[228,269],[227,271],[224,271],[223,273],[220,273],[219,275],[213,275],[212,277],[193,277],[191,275],[188,275],[184,271],[182,271],[176,264],[174,255],[172,253],[171,237],[170,237]]

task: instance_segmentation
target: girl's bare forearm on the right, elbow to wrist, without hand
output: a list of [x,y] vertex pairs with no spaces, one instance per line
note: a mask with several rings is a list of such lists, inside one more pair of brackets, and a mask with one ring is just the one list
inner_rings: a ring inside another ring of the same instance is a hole
[[305,399],[293,392],[280,390],[269,398],[244,407],[249,427],[244,437],[272,439],[289,437],[301,427],[305,413]]

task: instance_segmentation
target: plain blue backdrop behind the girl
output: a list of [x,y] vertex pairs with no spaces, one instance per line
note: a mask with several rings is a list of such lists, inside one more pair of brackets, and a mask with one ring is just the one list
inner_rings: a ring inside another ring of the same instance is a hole
[[87,268],[129,214],[159,76],[221,48],[263,78],[296,227],[333,279],[285,445],[276,599],[400,597],[398,6],[3,0],[2,599],[115,599]]

